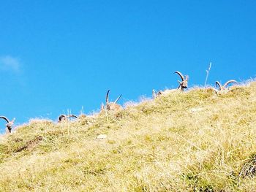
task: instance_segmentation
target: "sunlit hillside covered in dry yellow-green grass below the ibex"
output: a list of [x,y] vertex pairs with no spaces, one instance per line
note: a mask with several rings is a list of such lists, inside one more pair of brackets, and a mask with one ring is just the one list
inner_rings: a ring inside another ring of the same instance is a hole
[[254,191],[255,137],[256,82],[31,121],[0,139],[0,191]]

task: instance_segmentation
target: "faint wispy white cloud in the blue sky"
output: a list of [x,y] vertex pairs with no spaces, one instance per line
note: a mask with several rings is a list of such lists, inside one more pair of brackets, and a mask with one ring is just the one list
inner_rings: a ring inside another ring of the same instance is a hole
[[20,61],[10,55],[0,56],[0,69],[4,71],[20,72]]

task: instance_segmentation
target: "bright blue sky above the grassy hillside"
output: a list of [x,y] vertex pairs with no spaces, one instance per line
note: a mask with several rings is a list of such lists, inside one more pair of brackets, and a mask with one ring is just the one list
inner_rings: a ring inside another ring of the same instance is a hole
[[[255,78],[256,1],[1,1],[0,115],[25,123],[189,85]],[[4,130],[4,120],[0,128]]]

